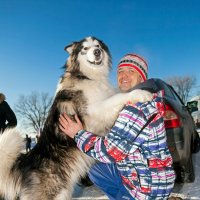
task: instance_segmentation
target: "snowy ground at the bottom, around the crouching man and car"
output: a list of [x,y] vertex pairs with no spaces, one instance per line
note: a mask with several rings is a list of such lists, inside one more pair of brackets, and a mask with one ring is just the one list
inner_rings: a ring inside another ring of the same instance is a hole
[[[195,182],[176,184],[173,190],[173,196],[181,197],[184,200],[200,200],[200,152],[193,155],[195,166]],[[106,200],[103,192],[95,186],[82,188],[77,186],[73,195],[73,200]]]

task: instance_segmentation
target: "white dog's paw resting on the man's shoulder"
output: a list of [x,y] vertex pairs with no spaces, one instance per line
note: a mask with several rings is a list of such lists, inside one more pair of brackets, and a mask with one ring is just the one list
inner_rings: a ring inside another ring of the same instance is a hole
[[129,94],[131,95],[132,103],[137,103],[137,102],[143,103],[146,101],[151,101],[153,99],[153,94],[145,90],[136,89],[131,91]]

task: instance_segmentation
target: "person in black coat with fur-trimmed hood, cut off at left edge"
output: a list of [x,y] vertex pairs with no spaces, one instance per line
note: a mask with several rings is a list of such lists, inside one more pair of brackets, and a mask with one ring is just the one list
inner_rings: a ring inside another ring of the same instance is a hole
[[12,128],[17,125],[15,113],[5,100],[5,95],[0,93],[0,134],[2,134],[6,128]]

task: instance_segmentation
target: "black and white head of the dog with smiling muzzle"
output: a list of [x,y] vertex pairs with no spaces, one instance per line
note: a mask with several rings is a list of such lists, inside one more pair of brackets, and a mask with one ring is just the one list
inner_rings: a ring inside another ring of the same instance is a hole
[[88,78],[107,75],[111,68],[111,57],[108,47],[95,37],[87,37],[65,47],[69,53],[67,71],[82,73]]

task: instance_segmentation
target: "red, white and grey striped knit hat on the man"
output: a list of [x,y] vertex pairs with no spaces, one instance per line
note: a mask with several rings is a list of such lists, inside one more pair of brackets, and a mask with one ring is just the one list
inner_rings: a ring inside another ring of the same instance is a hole
[[148,65],[142,57],[131,53],[126,54],[120,60],[117,68],[119,69],[126,66],[134,68],[141,75],[143,81],[147,79]]

